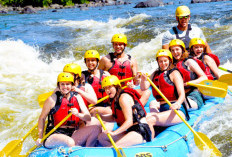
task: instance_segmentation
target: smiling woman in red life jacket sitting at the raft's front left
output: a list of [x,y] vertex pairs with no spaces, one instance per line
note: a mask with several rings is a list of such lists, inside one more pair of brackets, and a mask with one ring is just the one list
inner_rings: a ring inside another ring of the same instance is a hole
[[[91,116],[80,94],[72,91],[73,85],[74,78],[70,73],[62,72],[58,75],[57,86],[59,91],[46,100],[39,117],[39,139],[36,141],[37,145],[42,144],[40,141],[43,138],[46,118],[48,117],[47,134],[62,121],[70,111],[72,112],[72,116],[51,134],[43,142],[43,145],[47,148],[55,148],[58,146],[72,147],[79,145],[80,141],[93,143],[89,141],[89,139],[96,139],[98,133],[93,127],[88,130],[85,129],[85,135],[78,133],[79,121],[90,121]],[[100,131],[99,128],[97,129]],[[77,135],[79,136],[79,143],[76,142]],[[92,137],[89,137],[90,135],[92,135]],[[95,137],[93,138],[93,136]]]

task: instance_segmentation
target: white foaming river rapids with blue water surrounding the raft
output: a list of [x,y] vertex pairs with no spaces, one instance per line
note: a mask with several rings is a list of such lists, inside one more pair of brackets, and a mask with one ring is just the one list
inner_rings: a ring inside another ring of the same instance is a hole
[[[86,11],[76,8],[0,16],[0,150],[37,122],[41,112],[38,95],[55,88],[63,66],[76,62],[85,70],[84,52],[97,49],[101,56],[111,52],[115,33],[127,35],[126,52],[137,59],[139,71],[151,73],[157,67],[155,52],[161,48],[163,33],[176,25],[174,13],[179,2],[133,8],[137,2]],[[184,4],[190,7],[191,23],[203,30],[221,66],[232,69],[232,2]],[[208,112],[210,120],[197,128],[223,156],[232,156],[231,106],[231,97],[227,97]],[[32,143],[26,140],[23,150]],[[199,156],[194,145],[192,150],[189,156]]]

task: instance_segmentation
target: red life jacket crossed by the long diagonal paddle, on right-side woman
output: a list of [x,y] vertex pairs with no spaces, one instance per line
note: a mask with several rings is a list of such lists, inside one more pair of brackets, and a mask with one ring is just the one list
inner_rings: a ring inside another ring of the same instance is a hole
[[[176,87],[169,78],[169,75],[174,70],[177,70],[177,69],[173,68],[171,70],[168,70],[166,73],[161,72],[161,71],[157,72],[152,79],[152,82],[160,89],[160,91],[169,101],[178,99],[178,93],[177,93]],[[164,101],[164,99],[160,96],[160,94],[154,88],[152,88],[152,93],[157,101]]]

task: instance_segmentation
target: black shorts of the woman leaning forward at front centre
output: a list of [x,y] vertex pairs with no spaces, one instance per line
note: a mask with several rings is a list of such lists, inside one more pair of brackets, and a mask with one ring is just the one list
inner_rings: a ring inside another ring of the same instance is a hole
[[135,131],[142,135],[143,139],[147,142],[151,141],[151,130],[148,124],[145,123],[139,123],[131,126],[129,129],[127,129],[127,132]]

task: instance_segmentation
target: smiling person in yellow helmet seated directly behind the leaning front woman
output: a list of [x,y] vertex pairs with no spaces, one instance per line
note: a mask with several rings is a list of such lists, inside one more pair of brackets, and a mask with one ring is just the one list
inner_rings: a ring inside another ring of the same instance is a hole
[[[84,60],[88,70],[82,71],[81,76],[83,80],[85,80],[85,83],[89,83],[93,87],[97,99],[107,96],[104,89],[102,89],[101,84],[102,80],[110,74],[107,71],[97,68],[100,60],[99,53],[96,50],[88,50],[85,52]],[[96,104],[94,108],[90,110],[90,113],[94,112],[94,110],[98,110],[98,113],[100,114],[112,114],[108,100]]]

